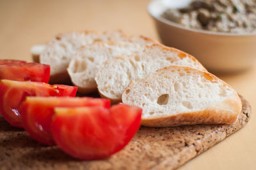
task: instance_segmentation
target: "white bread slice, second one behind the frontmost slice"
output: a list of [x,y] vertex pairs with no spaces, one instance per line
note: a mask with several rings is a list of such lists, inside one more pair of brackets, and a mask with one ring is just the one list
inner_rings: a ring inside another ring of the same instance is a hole
[[144,36],[131,36],[122,42],[95,42],[78,50],[68,65],[68,74],[80,93],[97,91],[95,75],[100,65],[116,56],[136,54],[156,41]]

